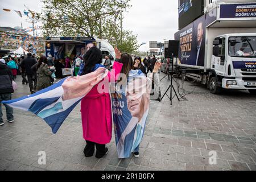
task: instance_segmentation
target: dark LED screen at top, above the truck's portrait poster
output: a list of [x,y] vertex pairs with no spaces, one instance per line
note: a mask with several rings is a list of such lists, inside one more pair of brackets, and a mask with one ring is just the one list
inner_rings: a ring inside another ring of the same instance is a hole
[[179,29],[203,14],[202,0],[179,0]]

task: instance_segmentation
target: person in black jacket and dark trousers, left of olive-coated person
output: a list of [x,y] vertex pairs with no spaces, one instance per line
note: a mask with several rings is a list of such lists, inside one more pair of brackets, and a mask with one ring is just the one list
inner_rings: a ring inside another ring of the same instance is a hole
[[[36,90],[36,73],[32,71],[32,66],[37,63],[36,59],[32,57],[30,52],[27,53],[27,57],[22,60],[20,67],[24,67],[27,75],[28,85],[30,87],[30,93],[35,93]],[[34,84],[33,84],[34,82]]]

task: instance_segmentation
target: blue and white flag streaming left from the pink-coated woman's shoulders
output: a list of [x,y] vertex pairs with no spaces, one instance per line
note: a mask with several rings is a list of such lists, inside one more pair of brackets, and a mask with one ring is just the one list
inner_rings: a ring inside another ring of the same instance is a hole
[[3,104],[16,109],[31,111],[46,121],[52,129],[52,133],[56,134],[64,120],[82,98],[107,74],[107,69],[98,68],[95,72],[84,76],[64,78],[34,94],[3,101]]

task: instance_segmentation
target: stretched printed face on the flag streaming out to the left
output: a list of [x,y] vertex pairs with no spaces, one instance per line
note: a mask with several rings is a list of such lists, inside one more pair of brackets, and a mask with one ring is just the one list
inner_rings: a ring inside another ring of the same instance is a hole
[[97,85],[107,74],[107,69],[98,68],[97,71],[87,75],[67,78],[62,84],[64,90],[63,100],[71,100],[85,96],[90,92],[93,86]]

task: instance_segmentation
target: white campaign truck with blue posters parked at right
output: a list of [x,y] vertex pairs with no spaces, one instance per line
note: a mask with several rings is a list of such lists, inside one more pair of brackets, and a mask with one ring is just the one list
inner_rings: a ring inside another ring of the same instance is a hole
[[175,34],[177,69],[210,92],[247,89],[256,94],[256,2],[214,1]]

